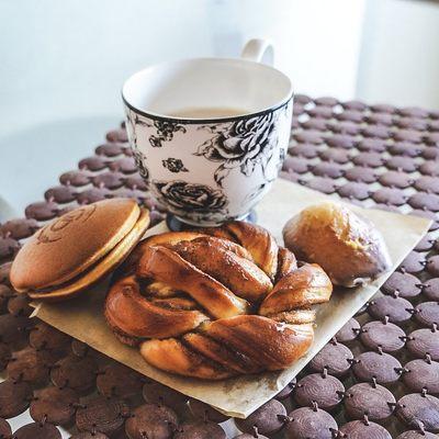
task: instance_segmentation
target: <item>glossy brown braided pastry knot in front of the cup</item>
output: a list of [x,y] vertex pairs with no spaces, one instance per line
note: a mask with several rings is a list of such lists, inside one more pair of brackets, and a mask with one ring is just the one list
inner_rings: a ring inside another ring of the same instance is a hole
[[313,341],[312,305],[331,291],[319,266],[297,267],[264,228],[229,222],[138,244],[104,313],[154,367],[219,380],[291,365]]

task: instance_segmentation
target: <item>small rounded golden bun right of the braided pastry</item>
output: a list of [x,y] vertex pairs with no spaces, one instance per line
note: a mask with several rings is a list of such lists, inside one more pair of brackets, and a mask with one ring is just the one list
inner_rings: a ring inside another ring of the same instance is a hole
[[283,238],[299,258],[322,266],[335,284],[356,286],[391,267],[379,230],[340,204],[305,209],[286,223]]

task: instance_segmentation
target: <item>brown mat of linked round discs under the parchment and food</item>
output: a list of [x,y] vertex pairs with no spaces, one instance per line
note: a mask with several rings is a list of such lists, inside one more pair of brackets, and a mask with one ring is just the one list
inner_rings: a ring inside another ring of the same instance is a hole
[[[434,221],[381,292],[274,399],[237,420],[247,438],[434,438],[439,431],[439,111],[296,95],[281,177],[354,204]],[[165,218],[122,125],[25,217],[0,225],[0,438],[225,438],[223,415],[43,322],[9,284],[21,244],[77,206],[128,196]],[[160,436],[157,436],[160,435]]]

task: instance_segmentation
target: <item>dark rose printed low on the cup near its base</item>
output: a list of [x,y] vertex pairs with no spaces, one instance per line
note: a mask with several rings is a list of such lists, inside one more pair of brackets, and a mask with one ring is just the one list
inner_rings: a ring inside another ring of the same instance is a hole
[[227,198],[221,189],[205,184],[193,184],[182,180],[153,181],[153,191],[158,201],[166,203],[175,213],[194,213],[211,216],[226,213]]

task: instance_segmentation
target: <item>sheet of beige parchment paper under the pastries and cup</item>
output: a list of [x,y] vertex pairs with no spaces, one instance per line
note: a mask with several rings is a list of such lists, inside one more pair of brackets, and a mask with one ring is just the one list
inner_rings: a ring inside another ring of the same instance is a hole
[[[328,199],[330,198],[319,192],[285,180],[278,180],[257,207],[258,224],[267,227],[279,243],[282,243],[282,227],[291,216],[309,204]],[[382,232],[392,257],[393,269],[369,285],[354,290],[337,289],[329,303],[318,306],[317,327],[312,348],[305,357],[285,371],[206,382],[179,378],[148,365],[137,349],[119,342],[105,324],[102,304],[108,280],[75,301],[38,304],[34,315],[162,384],[201,399],[229,416],[246,417],[282,390],[338,329],[372,297],[430,225],[430,221],[416,216],[365,210],[353,205],[350,207],[372,221]],[[161,223],[148,233],[164,230],[166,230],[166,225]]]

